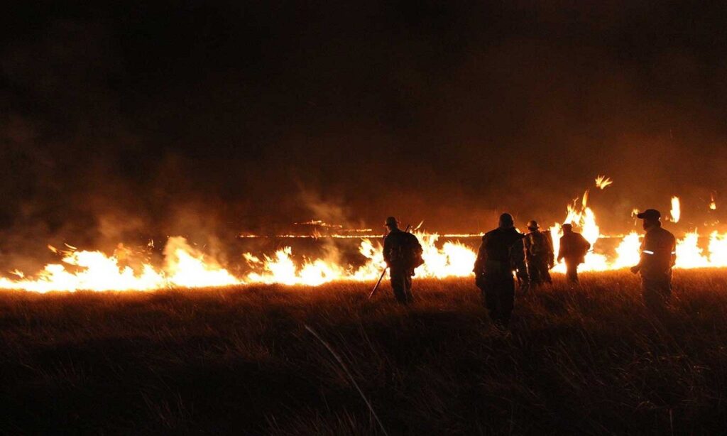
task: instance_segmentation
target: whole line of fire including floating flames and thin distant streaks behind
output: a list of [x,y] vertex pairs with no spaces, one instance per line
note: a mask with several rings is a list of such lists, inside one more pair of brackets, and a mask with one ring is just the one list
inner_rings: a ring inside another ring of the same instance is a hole
[[[595,179],[597,189],[606,189],[613,181],[604,176]],[[717,209],[715,195],[705,206]],[[638,213],[634,209],[632,214]],[[680,220],[680,201],[671,198],[668,222]],[[590,207],[589,190],[567,206],[566,217],[550,226],[554,249],[562,235],[563,223],[572,223],[590,242],[591,249],[582,271],[619,270],[638,263],[641,235],[635,230],[626,235],[603,235],[598,219]],[[705,223],[707,230],[694,229],[678,238],[676,268],[707,268],[727,266],[727,233],[710,230],[718,222]],[[524,223],[520,223],[524,225]],[[152,265],[144,249],[129,249],[122,243],[113,254],[86,251],[66,245],[63,249],[49,246],[60,261],[46,265],[43,270],[26,275],[20,270],[9,271],[0,278],[0,288],[24,291],[148,291],[158,288],[199,288],[244,285],[252,283],[319,286],[336,280],[376,280],[385,267],[382,256],[381,236],[370,228],[348,229],[312,219],[296,222],[296,232],[286,235],[252,235],[241,233],[238,238],[276,238],[278,241],[305,239],[326,245],[330,239],[358,241],[358,262],[347,262],[335,246],[327,246],[322,257],[294,258],[294,244],[285,243],[274,252],[256,254],[245,252],[241,258],[246,265],[245,273],[233,273],[218,259],[205,254],[182,236],[168,238],[163,250],[161,265]],[[424,265],[416,270],[417,277],[450,278],[473,275],[476,244],[481,233],[437,234],[422,230],[422,224],[414,227],[414,234],[422,243]],[[153,248],[153,242],[148,244]],[[358,263],[358,265],[355,265]],[[555,273],[565,273],[561,262],[555,265]]]

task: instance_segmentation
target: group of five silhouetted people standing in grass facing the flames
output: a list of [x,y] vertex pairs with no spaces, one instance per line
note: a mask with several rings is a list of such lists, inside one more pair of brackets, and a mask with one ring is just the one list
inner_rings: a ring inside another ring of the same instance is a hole
[[[643,219],[646,235],[641,243],[640,261],[631,271],[640,273],[644,302],[656,310],[664,307],[671,294],[676,239],[662,228],[659,211],[647,209],[637,217]],[[416,236],[398,228],[394,217],[388,217],[385,226],[388,233],[384,240],[384,259],[389,267],[391,287],[397,301],[408,304],[412,298],[414,269],[424,262],[422,246]],[[482,291],[491,320],[501,328],[507,328],[510,323],[515,304],[515,280],[523,293],[553,283],[550,270],[557,259],[565,262],[569,283],[578,283],[578,265],[585,262],[591,248],[586,238],[566,223],[563,224],[558,257],[555,257],[550,233],[541,231],[536,221],[528,222],[527,228],[528,233],[520,233],[512,215],[500,215],[497,228],[482,237],[475,260],[475,284]]]

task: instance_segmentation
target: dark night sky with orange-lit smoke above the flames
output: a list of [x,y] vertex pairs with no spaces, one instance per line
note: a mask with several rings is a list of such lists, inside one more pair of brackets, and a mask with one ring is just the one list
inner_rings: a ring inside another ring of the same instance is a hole
[[88,3],[0,17],[0,252],[727,200],[723,2]]

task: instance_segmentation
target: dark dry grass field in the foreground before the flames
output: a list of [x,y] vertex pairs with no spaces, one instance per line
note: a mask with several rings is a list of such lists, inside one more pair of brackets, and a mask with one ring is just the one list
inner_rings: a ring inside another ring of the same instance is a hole
[[727,428],[727,273],[680,270],[670,312],[625,272],[518,298],[495,331],[471,279],[0,294],[0,432],[390,434]]

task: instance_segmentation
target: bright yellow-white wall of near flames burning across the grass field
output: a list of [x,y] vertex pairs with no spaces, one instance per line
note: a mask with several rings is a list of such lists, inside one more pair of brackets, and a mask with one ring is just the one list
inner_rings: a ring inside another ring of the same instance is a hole
[[[599,182],[601,185],[604,183],[603,180],[597,180],[597,185]],[[680,217],[679,200],[676,197],[672,198],[671,217],[674,222]],[[588,191],[580,201],[577,199],[568,206],[563,222],[571,222],[592,246],[603,237],[596,222],[595,212],[588,206]],[[561,224],[556,223],[549,231],[557,253],[562,235]],[[472,267],[477,255],[472,248],[457,241],[446,241],[440,247],[438,246],[440,235],[418,231],[415,234],[422,243],[425,260],[425,264],[417,268],[417,277],[467,277],[473,274]],[[345,235],[345,237],[352,236]],[[46,265],[44,270],[33,278],[14,270],[11,274],[17,276],[17,279],[0,277],[0,288],[37,292],[81,289],[145,291],[166,287],[196,288],[252,283],[318,286],[334,280],[376,280],[385,267],[381,243],[374,242],[372,237],[358,236],[358,238],[361,238],[358,251],[366,259],[361,267],[342,264],[336,254],[323,259],[307,259],[302,264],[296,263],[292,248],[288,246],[269,256],[243,254],[253,271],[243,277],[233,275],[215,259],[193,248],[180,236],[169,238],[167,241],[164,248],[164,263],[161,267],[142,263],[140,267],[132,269],[124,266],[123,251],[109,256],[100,251],[77,251],[75,247],[68,246],[68,250],[60,252],[64,255],[60,263]],[[678,240],[676,267],[727,267],[727,233],[712,232],[706,252],[699,247],[698,239],[699,235],[695,230]],[[638,262],[639,247],[640,235],[636,232],[629,233],[622,237],[616,246],[615,257],[609,258],[604,254],[590,251],[580,270],[604,271],[630,267]],[[563,263],[556,265],[554,271],[564,273],[565,265]]]

